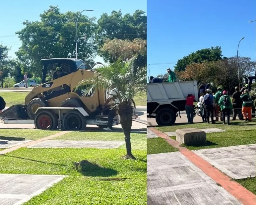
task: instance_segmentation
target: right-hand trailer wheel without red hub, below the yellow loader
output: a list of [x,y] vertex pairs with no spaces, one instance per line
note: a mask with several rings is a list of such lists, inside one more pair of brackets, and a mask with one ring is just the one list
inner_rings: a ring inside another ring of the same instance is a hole
[[76,110],[68,111],[63,117],[63,128],[65,130],[85,130],[86,119]]

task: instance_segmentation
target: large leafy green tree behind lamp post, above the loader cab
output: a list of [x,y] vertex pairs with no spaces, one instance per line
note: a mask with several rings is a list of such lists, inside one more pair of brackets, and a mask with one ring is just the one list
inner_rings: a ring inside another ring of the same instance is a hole
[[[30,73],[41,75],[40,60],[44,58],[75,57],[75,23],[79,12],[61,13],[56,6],[40,14],[40,21],[25,21],[17,32],[22,45],[16,52],[20,61],[29,66]],[[96,55],[95,18],[81,15],[78,20],[78,58],[92,61]],[[82,37],[86,36],[86,39]]]

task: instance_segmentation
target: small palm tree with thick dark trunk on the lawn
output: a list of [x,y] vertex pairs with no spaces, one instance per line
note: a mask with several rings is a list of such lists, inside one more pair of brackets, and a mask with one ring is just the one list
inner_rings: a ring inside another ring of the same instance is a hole
[[95,77],[81,81],[77,87],[85,86],[86,94],[95,89],[112,90],[117,89],[117,98],[120,101],[117,112],[120,116],[121,126],[125,135],[127,154],[124,158],[135,159],[131,148],[131,127],[132,127],[132,102],[136,94],[146,94],[146,67],[134,69],[134,62],[137,55],[126,61],[122,57],[109,66],[96,69]]

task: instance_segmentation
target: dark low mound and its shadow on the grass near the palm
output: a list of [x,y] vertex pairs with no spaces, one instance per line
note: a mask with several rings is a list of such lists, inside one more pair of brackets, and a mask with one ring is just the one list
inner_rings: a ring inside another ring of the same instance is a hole
[[117,175],[117,171],[111,168],[101,167],[87,160],[74,162],[74,168],[84,176],[102,176],[109,177]]

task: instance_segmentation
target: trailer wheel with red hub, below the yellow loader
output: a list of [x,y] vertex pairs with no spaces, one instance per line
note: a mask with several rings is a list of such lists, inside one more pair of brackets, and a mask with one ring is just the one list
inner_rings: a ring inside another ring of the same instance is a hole
[[[36,113],[34,123],[36,129],[55,130],[58,127],[58,118],[53,112],[49,110],[42,110],[39,113]],[[48,124],[50,125],[46,126]]]

